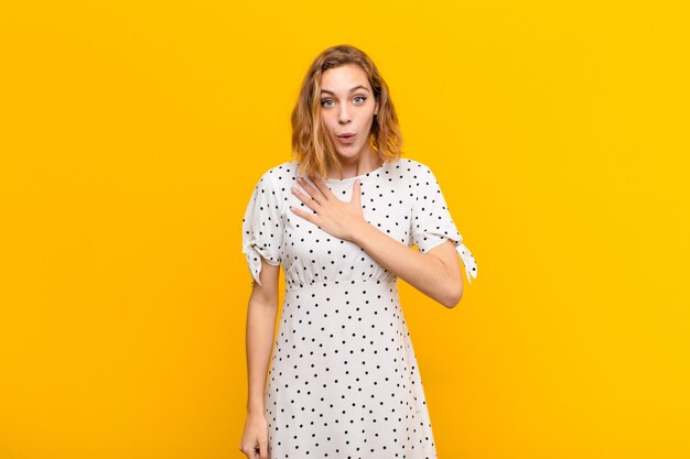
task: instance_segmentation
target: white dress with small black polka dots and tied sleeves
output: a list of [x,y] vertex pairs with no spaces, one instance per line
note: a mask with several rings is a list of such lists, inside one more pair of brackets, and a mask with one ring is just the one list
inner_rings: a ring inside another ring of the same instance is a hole
[[[267,171],[242,220],[242,253],[260,284],[262,256],[282,264],[285,295],[265,405],[271,459],[436,457],[397,276],[357,244],[292,214],[297,161]],[[451,239],[477,267],[431,170],[410,159],[325,183],[342,200],[360,179],[365,219],[422,253]],[[311,181],[305,177],[308,182]]]

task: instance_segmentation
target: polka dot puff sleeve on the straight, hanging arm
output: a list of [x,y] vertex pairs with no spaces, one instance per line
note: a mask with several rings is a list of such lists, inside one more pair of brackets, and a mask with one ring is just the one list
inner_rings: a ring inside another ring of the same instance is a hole
[[242,253],[254,282],[261,285],[261,256],[267,263],[280,265],[283,222],[278,189],[270,171],[254,188],[242,219]]

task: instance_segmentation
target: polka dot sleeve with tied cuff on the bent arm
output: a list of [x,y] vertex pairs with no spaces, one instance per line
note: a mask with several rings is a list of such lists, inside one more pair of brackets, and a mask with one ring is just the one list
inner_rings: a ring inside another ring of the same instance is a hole
[[457,231],[451,217],[451,212],[441,192],[441,186],[433,172],[420,163],[414,173],[412,184],[414,196],[412,203],[411,238],[422,253],[451,239],[460,255],[467,275],[467,282],[477,276],[477,265],[474,255],[463,243],[463,238]]

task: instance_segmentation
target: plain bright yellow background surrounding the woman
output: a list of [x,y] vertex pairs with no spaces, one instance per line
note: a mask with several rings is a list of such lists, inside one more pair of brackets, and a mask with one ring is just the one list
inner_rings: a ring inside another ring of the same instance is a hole
[[688,2],[241,3],[0,7],[0,458],[244,457],[241,217],[341,43],[478,264],[401,282],[439,458],[690,457]]

